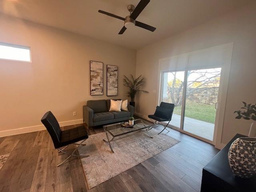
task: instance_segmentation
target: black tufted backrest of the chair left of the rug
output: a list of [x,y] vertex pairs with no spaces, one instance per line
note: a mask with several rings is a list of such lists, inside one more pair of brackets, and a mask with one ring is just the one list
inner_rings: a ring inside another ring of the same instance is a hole
[[48,111],[42,117],[41,122],[44,124],[47,131],[49,132],[54,146],[56,146],[56,144],[59,143],[61,139],[61,130],[58,121],[56,120],[52,112]]

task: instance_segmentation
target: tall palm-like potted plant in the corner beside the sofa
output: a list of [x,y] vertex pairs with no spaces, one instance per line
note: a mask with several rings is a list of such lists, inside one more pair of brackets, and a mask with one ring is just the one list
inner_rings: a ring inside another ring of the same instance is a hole
[[134,78],[131,74],[132,79],[130,80],[128,77],[124,75],[124,86],[128,87],[128,97],[130,97],[130,105],[135,106],[135,96],[138,92],[148,93],[145,90],[141,90],[141,87],[145,84],[144,77],[140,75],[138,78]]

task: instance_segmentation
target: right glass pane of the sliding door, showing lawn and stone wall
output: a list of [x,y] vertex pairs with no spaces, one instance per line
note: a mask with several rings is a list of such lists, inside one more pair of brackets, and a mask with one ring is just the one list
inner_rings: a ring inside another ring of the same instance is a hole
[[188,71],[184,130],[213,140],[221,68]]

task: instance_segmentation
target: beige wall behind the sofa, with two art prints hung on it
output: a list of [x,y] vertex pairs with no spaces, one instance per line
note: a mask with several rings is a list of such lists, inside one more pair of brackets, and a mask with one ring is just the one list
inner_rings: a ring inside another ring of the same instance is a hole
[[[2,14],[0,42],[32,52],[31,63],[0,60],[0,135],[40,125],[48,110],[59,122],[82,119],[87,100],[126,99],[122,77],[135,75],[134,50]],[[104,62],[104,96],[90,96],[90,60]],[[117,97],[106,96],[107,64],[119,67]]]

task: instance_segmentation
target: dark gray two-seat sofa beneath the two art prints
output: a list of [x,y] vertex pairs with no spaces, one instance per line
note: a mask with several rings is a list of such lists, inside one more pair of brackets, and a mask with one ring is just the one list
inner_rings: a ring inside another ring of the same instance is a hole
[[84,123],[86,123],[89,128],[97,125],[125,121],[134,114],[134,106],[131,105],[128,105],[128,111],[109,112],[109,109],[110,100],[88,100],[87,105],[83,106]]

